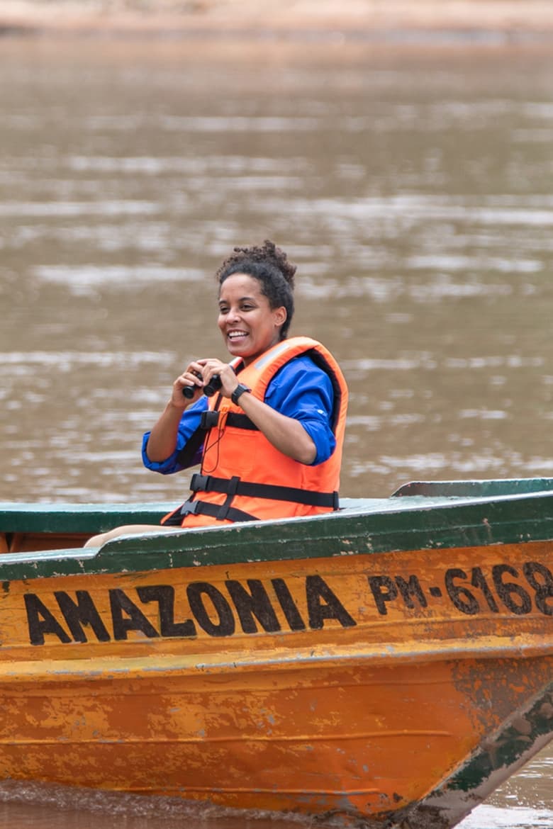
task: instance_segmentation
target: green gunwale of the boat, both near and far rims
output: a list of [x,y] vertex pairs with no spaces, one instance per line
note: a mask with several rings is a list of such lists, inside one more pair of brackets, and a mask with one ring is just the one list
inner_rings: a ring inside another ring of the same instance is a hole
[[[433,495],[424,494],[430,491]],[[450,550],[553,538],[553,478],[416,482],[389,498],[342,499],[342,505],[341,511],[322,516],[120,536],[99,548],[6,553],[0,555],[0,579]],[[154,523],[166,512],[166,503],[4,503],[0,532],[92,534],[124,523]]]

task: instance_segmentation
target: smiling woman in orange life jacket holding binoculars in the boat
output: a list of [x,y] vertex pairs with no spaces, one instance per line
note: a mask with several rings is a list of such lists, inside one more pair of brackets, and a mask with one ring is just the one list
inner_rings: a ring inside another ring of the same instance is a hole
[[[321,343],[287,338],[295,271],[270,241],[235,248],[217,271],[218,325],[232,359],[191,361],[143,436],[143,463],[155,472],[201,463],[192,494],[157,531],[338,508],[347,385]],[[87,545],[152,530],[118,527]]]

